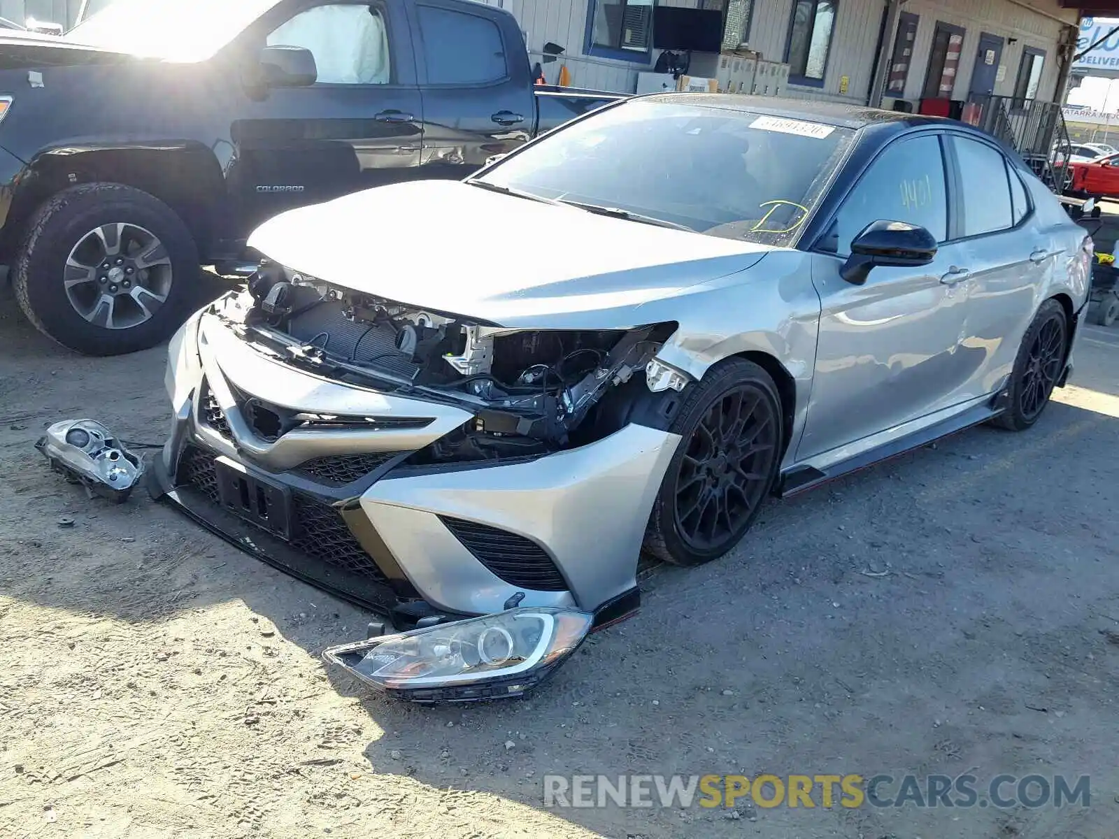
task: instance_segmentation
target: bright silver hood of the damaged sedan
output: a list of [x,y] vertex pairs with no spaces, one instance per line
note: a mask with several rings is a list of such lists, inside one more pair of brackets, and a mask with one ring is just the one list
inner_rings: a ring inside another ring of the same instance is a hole
[[460,181],[413,181],[290,210],[248,245],[333,285],[501,327],[617,312],[744,271],[771,248]]

